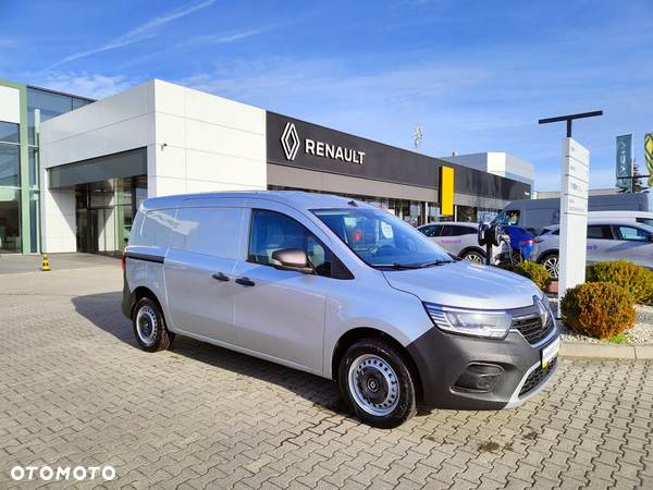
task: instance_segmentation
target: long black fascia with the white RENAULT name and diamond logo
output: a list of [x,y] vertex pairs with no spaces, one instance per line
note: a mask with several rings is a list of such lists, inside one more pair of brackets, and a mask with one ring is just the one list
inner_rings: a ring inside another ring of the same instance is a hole
[[523,199],[530,186],[305,121],[267,112],[268,162],[360,179],[440,188],[440,167],[454,169],[454,192]]

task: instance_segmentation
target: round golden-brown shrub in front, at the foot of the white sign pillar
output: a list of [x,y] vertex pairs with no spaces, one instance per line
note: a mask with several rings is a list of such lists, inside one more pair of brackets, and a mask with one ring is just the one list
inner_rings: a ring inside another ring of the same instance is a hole
[[560,302],[563,322],[577,333],[607,339],[634,324],[632,296],[611,282],[570,287]]

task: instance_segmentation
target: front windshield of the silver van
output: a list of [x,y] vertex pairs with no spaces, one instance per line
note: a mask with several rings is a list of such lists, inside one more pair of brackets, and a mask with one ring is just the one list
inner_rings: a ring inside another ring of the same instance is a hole
[[446,252],[387,211],[345,208],[312,212],[371,267],[412,269],[453,261]]

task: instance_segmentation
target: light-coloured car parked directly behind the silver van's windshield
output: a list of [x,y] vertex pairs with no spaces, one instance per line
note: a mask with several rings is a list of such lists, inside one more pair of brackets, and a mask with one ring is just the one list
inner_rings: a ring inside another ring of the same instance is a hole
[[[485,264],[485,247],[479,245],[479,223],[446,222],[422,224],[417,228],[431,242],[449,254],[472,262]],[[510,259],[507,243],[492,247],[492,264]]]

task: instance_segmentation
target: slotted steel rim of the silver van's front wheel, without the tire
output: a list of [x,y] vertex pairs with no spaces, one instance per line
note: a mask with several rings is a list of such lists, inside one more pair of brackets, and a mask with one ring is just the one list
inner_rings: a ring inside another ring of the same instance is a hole
[[352,363],[347,380],[356,404],[370,415],[383,417],[399,403],[399,380],[381,357],[364,354]]

